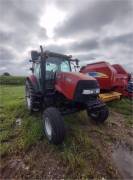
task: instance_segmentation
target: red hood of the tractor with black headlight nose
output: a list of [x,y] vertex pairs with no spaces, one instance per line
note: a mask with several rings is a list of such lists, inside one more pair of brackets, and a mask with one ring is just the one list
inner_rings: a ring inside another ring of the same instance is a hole
[[76,72],[57,73],[55,88],[69,100],[79,98],[79,94],[88,97],[87,95],[91,94],[93,90],[97,90],[96,94],[99,93],[99,85],[96,79]]

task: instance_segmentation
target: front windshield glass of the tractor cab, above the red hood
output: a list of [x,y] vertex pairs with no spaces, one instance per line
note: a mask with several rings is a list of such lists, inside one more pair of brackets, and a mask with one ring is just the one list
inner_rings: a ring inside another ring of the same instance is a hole
[[70,63],[67,59],[62,57],[48,57],[46,60],[46,71],[70,72]]

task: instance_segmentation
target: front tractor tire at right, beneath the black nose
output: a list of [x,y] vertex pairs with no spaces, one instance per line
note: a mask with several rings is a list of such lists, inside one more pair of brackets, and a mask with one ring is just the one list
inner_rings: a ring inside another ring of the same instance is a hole
[[95,112],[89,112],[87,110],[87,114],[96,123],[104,123],[109,116],[109,110],[108,110],[107,106],[105,106],[102,109],[100,109],[99,111],[95,111]]

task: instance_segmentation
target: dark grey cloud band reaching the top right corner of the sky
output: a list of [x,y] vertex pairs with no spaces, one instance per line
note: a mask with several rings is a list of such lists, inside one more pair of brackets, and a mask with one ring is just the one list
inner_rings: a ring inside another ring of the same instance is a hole
[[[81,6],[82,7],[82,6]],[[132,14],[130,0],[126,1],[88,1],[88,5],[69,13],[66,21],[56,29],[58,36],[73,36],[84,31],[100,31],[116,19],[124,19]]]

